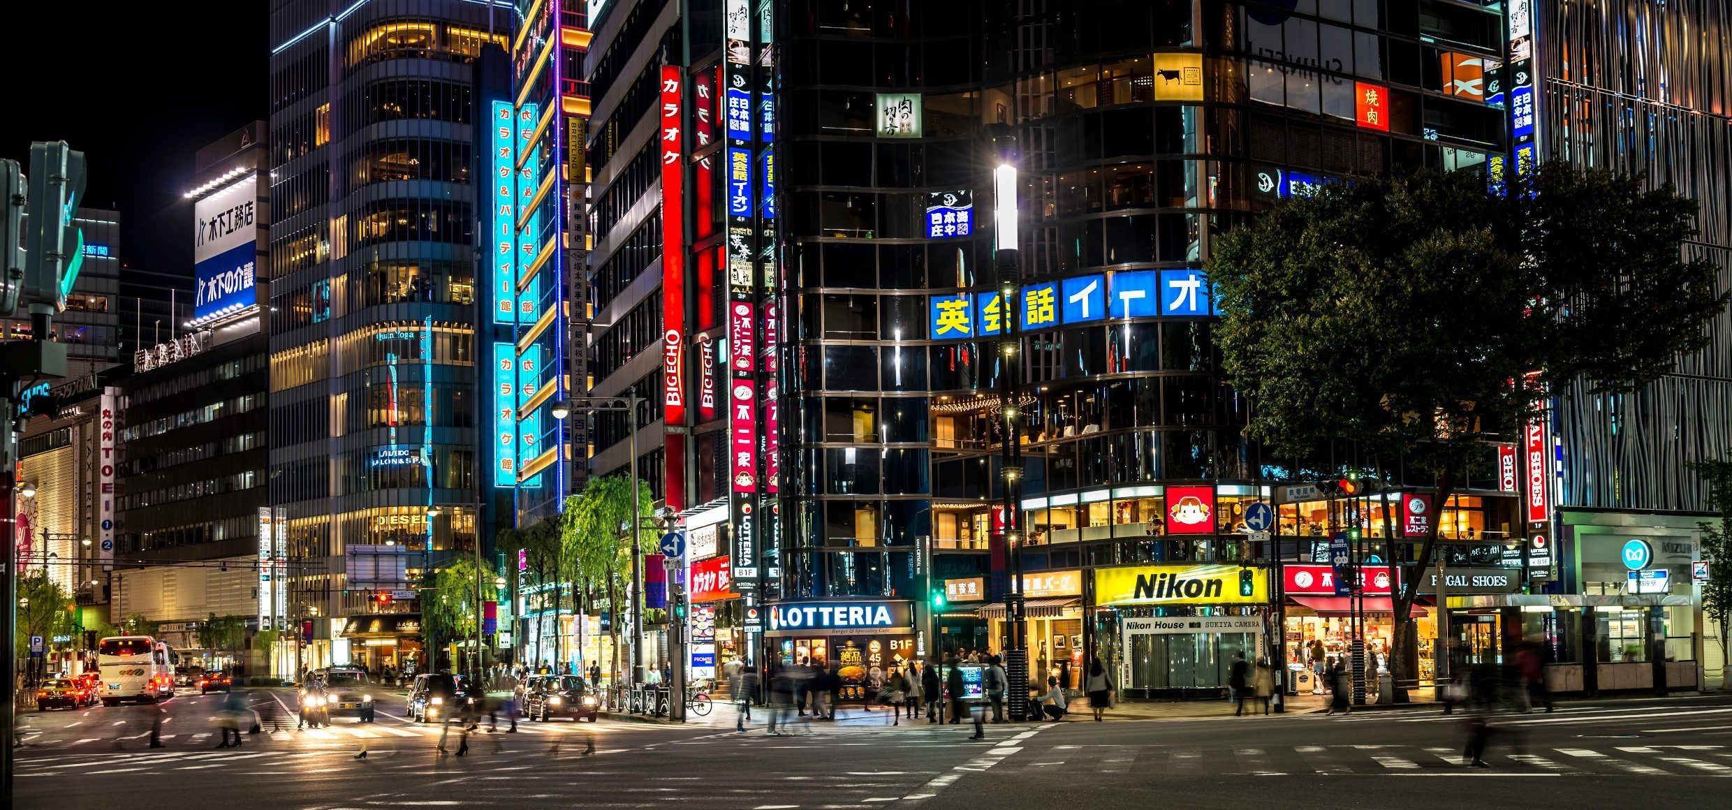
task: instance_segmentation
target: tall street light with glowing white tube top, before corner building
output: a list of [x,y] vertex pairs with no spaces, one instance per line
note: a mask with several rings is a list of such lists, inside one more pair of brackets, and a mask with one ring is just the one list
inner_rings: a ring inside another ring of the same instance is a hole
[[992,170],[992,235],[996,251],[992,256],[994,280],[998,282],[998,301],[1003,325],[999,327],[999,372],[998,395],[999,415],[1005,421],[999,436],[999,474],[1005,478],[1005,550],[1010,559],[1010,583],[1005,592],[1005,680],[1010,698],[1010,718],[1022,722],[1029,706],[1029,625],[1027,602],[1022,594],[1022,516],[1018,514],[1022,495],[1022,441],[1020,441],[1020,391],[1017,358],[1018,325],[1022,322],[1022,254],[1017,249],[1017,138],[1008,128],[992,138],[994,152],[999,159]]

